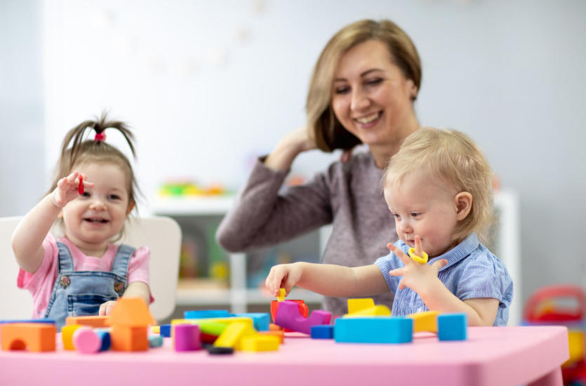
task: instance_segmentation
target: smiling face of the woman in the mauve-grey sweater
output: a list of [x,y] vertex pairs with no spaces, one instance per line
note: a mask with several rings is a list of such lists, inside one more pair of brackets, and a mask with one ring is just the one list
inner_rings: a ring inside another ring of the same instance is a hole
[[387,46],[369,40],[350,48],[335,70],[332,106],[338,121],[364,144],[394,146],[418,126],[417,88],[391,61]]

